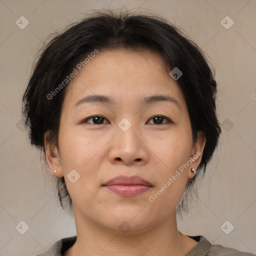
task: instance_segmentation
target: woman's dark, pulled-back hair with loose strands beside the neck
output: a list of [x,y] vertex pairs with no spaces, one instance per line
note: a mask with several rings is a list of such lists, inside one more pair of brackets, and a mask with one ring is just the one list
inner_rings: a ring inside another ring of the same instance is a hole
[[[45,157],[43,135],[46,130],[50,130],[49,141],[57,146],[60,112],[69,82],[58,91],[56,88],[77,63],[95,49],[118,48],[152,50],[161,57],[166,69],[170,71],[177,67],[181,70],[182,75],[177,84],[185,98],[193,142],[197,139],[197,131],[202,131],[206,138],[196,170],[204,175],[221,133],[216,116],[214,71],[202,50],[158,15],[96,11],[71,24],[47,43],[33,67],[23,95],[22,114],[31,144],[44,152]],[[54,90],[54,100],[51,100],[49,95]],[[194,180],[187,180],[184,194],[176,208],[178,213],[187,211],[187,193]],[[72,200],[64,177],[56,178],[56,188],[61,207],[64,209],[65,202],[71,208]]]

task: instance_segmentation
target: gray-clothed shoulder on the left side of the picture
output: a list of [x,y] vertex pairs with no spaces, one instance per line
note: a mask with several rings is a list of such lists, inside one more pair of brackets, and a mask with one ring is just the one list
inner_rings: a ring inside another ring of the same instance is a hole
[[62,256],[62,253],[71,247],[75,241],[76,235],[62,238],[51,244],[51,246],[44,252],[36,254],[35,256]]

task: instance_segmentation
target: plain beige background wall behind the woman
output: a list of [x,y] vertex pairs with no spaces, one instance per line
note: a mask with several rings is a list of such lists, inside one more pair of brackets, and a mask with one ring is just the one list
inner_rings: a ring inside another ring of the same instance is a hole
[[[255,253],[255,0],[0,0],[0,255],[34,255],[76,234],[74,220],[60,208],[49,180],[44,181],[39,153],[17,123],[41,41],[82,18],[83,12],[109,6],[162,15],[208,54],[216,70],[223,134],[198,184],[200,199],[178,227]],[[29,21],[24,29],[15,24],[21,15]],[[229,29],[220,23],[226,15],[234,21]],[[24,234],[15,229],[21,220],[29,226]],[[220,228],[226,220],[234,226],[229,234]]]

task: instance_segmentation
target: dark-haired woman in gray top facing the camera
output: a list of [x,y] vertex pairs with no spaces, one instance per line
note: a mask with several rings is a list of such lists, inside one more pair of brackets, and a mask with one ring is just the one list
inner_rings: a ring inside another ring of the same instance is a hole
[[77,235],[38,255],[253,255],[177,229],[218,143],[215,95],[202,51],[160,17],[105,11],[53,38],[23,113]]

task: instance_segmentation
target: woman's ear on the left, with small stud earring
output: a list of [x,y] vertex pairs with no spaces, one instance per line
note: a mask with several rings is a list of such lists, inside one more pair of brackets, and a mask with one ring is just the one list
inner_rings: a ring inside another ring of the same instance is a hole
[[[59,152],[57,147],[53,145],[53,142],[50,140],[51,132],[52,131],[47,130],[43,135],[45,158],[51,173],[56,177],[62,177],[63,171],[61,167]],[[54,170],[56,170],[55,173]]]

